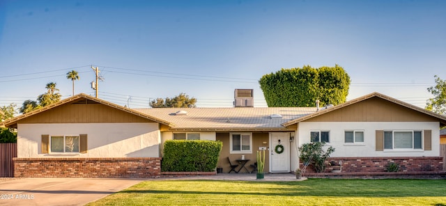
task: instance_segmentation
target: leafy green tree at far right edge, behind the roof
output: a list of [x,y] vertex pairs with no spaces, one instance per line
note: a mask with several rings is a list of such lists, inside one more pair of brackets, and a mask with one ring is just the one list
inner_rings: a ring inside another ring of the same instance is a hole
[[436,86],[427,88],[433,98],[429,98],[426,103],[426,109],[446,115],[446,81],[435,75]]

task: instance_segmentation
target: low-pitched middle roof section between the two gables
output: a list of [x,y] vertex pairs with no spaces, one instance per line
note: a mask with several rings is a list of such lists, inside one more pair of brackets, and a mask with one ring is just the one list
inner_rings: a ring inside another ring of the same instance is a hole
[[[236,107],[134,110],[172,122],[175,126],[169,128],[171,131],[292,131],[293,129],[286,128],[282,124],[314,113],[316,108]],[[181,112],[177,113],[178,111]]]

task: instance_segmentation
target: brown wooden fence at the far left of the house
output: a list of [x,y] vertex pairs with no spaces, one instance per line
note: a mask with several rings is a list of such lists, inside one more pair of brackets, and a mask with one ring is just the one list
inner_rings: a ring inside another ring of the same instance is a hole
[[17,143],[0,143],[0,177],[14,177],[13,157],[17,157]]

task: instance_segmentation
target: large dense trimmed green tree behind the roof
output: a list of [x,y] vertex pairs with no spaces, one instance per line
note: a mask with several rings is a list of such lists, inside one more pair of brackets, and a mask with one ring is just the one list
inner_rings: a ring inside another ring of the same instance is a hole
[[315,106],[346,102],[350,77],[339,65],[334,67],[282,69],[259,80],[268,106]]

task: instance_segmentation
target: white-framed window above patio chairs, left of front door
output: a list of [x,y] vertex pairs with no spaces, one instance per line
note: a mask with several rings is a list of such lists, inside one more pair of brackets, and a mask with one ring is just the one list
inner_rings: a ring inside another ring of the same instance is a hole
[[231,154],[244,154],[252,153],[252,133],[231,133],[229,153]]

